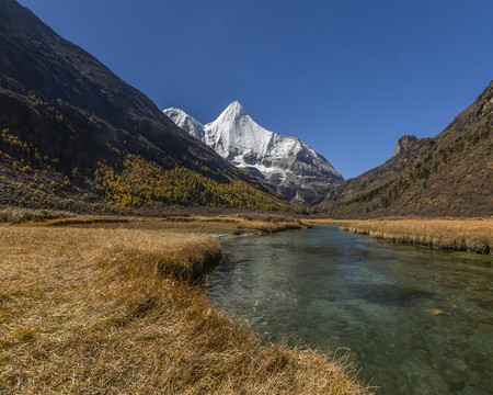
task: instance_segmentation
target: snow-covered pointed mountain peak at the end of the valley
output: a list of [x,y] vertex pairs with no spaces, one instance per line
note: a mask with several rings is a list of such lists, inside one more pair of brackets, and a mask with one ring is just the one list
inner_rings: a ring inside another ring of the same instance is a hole
[[344,179],[329,161],[296,137],[260,126],[232,102],[216,121],[200,124],[179,109],[164,113],[181,128],[279,193],[302,204],[317,203]]

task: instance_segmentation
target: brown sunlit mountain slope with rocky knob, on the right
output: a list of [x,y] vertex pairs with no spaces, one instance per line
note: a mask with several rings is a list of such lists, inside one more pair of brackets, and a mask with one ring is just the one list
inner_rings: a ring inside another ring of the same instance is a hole
[[318,207],[334,217],[493,214],[493,81],[436,137],[404,136],[383,165]]

